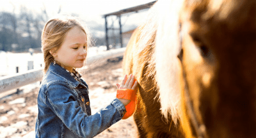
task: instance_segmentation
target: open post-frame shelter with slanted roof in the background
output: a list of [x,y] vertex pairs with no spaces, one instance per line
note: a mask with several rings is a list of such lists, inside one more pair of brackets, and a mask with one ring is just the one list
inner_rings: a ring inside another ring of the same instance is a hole
[[[152,1],[150,3],[146,3],[146,4],[141,4],[139,6],[134,6],[131,8],[126,8],[124,10],[120,10],[120,11],[115,11],[113,13],[108,13],[103,15],[103,17],[105,18],[105,30],[106,30],[106,46],[107,46],[107,50],[109,50],[109,36],[108,36],[108,31],[111,30],[115,30],[118,29],[119,30],[119,38],[120,38],[120,45],[121,47],[124,47],[124,42],[123,42],[123,36],[122,34],[122,23],[121,23],[121,16],[124,15],[125,13],[132,13],[135,12],[137,13],[140,10],[144,10],[147,8],[150,8],[154,3],[156,3],[156,1]],[[119,21],[119,28],[114,28],[114,27],[108,27],[108,17],[109,16],[116,16],[118,17],[118,21]],[[132,31],[128,31],[125,33],[125,35],[131,35]]]

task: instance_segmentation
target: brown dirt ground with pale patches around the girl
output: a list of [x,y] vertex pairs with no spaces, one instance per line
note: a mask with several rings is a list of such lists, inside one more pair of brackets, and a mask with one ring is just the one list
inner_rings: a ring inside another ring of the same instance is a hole
[[[90,89],[93,114],[115,98],[116,83],[124,77],[122,58],[100,61],[85,68],[83,79]],[[0,138],[35,137],[38,89],[0,99]],[[137,137],[133,117],[118,121],[96,137]]]

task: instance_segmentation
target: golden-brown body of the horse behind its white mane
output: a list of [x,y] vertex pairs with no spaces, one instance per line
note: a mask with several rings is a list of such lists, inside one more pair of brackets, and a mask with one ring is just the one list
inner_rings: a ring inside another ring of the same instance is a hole
[[[154,79],[155,72],[154,66],[150,66],[150,61],[152,60],[152,50],[153,45],[148,43],[150,49],[143,50],[143,52],[131,52],[138,51],[138,39],[140,38],[140,31],[143,27],[136,29],[132,35],[131,41],[129,42],[129,47],[125,51],[124,56],[124,70],[125,73],[132,73],[136,76],[138,80],[138,105],[136,112],[134,113],[134,119],[140,131],[140,137],[179,137],[182,131],[176,128],[175,123],[170,121],[165,121],[163,115],[161,114],[161,105],[157,96],[157,87]],[[154,41],[154,37],[152,42]],[[132,43],[132,45],[131,45]],[[127,60],[129,59],[129,61]],[[148,127],[150,126],[150,127]],[[157,133],[156,133],[157,132]]]

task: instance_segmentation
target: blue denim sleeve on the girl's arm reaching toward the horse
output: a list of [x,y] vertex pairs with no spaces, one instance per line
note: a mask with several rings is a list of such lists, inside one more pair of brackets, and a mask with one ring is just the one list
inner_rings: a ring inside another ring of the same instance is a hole
[[93,137],[123,118],[125,107],[115,98],[92,116],[84,113],[67,84],[53,83],[47,89],[47,105],[66,127],[81,137]]

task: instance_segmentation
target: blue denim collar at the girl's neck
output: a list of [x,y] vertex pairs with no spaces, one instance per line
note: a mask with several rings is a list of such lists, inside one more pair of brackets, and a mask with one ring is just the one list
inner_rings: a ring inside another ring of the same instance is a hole
[[49,66],[49,70],[51,72],[55,73],[56,75],[59,75],[65,79],[67,79],[67,81],[70,82],[70,84],[72,84],[72,86],[74,86],[75,88],[80,84],[80,82],[76,81],[76,79],[74,79],[74,77],[72,77],[70,75],[70,73],[67,72],[67,70],[65,70],[58,64],[54,65],[53,63],[51,63]]

